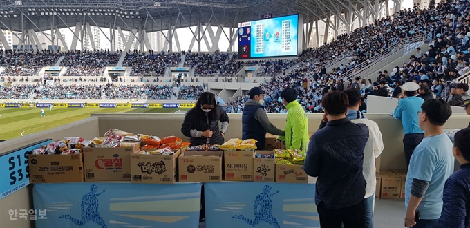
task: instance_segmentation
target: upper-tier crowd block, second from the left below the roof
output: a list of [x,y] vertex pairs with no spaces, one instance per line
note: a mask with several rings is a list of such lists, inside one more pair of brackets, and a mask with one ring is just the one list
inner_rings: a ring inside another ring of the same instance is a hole
[[64,76],[102,76],[106,66],[116,66],[120,53],[100,51],[69,51],[64,54],[60,66],[68,66]]

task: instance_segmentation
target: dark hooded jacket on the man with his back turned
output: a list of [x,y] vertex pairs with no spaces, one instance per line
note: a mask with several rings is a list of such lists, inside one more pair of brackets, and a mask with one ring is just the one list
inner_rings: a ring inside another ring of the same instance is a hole
[[369,138],[365,124],[348,118],[329,121],[310,138],[303,169],[317,178],[315,204],[328,209],[357,205],[366,195],[362,174],[364,148]]

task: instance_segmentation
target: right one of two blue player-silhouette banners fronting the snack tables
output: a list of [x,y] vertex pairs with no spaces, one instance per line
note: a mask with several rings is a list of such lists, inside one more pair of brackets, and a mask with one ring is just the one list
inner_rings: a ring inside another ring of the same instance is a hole
[[204,191],[207,228],[320,227],[315,184],[205,183]]

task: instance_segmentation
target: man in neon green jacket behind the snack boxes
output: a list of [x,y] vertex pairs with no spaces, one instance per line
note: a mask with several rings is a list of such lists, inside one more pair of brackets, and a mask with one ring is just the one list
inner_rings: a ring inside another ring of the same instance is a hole
[[281,147],[281,141],[285,140],[285,149],[300,149],[304,153],[308,145],[308,119],[306,112],[297,102],[297,92],[292,88],[286,88],[281,93],[282,102],[288,110],[285,123],[285,137],[279,136],[276,147]]

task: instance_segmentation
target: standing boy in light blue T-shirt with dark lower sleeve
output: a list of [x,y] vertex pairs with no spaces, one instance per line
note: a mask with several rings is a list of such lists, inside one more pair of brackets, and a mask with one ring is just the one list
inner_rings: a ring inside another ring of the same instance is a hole
[[442,99],[428,99],[416,115],[424,139],[413,151],[406,175],[405,227],[428,228],[438,223],[444,182],[453,173],[452,142],[442,129],[452,109]]

